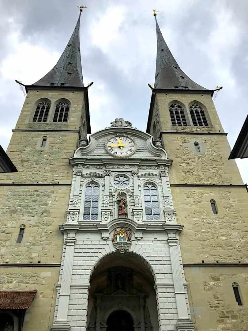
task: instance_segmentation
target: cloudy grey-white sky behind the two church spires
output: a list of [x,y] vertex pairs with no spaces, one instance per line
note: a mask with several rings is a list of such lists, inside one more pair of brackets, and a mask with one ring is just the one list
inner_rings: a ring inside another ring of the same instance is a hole
[[[123,117],[144,130],[154,83],[156,33],[152,9],[183,71],[198,84],[223,86],[215,106],[234,145],[247,116],[247,0],[1,0],[0,144],[7,148],[24,94],[57,62],[78,17],[81,58],[89,90],[92,132]],[[237,160],[244,183],[248,159]]]

